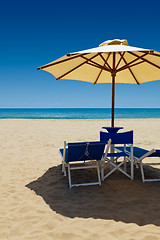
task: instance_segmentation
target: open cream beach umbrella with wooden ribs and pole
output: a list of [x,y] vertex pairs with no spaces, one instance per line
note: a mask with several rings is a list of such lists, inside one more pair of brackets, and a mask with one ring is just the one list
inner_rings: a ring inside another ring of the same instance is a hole
[[115,83],[139,85],[160,80],[160,53],[128,46],[127,40],[114,39],[96,48],[68,53],[37,69],[53,74],[57,80],[112,83],[111,126],[114,127]]

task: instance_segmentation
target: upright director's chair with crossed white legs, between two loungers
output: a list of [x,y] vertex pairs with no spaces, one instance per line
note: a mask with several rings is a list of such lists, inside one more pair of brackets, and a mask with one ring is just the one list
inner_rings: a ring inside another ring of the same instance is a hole
[[[107,133],[100,132],[100,141],[107,143],[111,139],[111,151],[107,153],[105,158],[101,161],[101,179],[102,181],[109,177],[113,172],[119,170],[124,175],[129,177],[131,180],[134,178],[134,168],[133,168],[133,154],[128,155],[125,151],[128,145],[131,153],[133,153],[133,131],[124,133]],[[116,145],[122,146],[121,151],[115,152],[114,148]],[[121,160],[121,161],[120,161]],[[131,163],[131,171],[127,172],[126,163]],[[123,168],[122,168],[123,167]],[[109,171],[105,174],[105,170]]]

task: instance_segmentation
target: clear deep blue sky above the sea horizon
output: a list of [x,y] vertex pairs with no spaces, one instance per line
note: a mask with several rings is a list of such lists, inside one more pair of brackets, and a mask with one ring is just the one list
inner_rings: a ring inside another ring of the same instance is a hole
[[[110,107],[111,84],[60,80],[37,67],[119,38],[160,52],[160,2],[1,1],[0,107]],[[116,107],[160,107],[160,81],[116,84]]]

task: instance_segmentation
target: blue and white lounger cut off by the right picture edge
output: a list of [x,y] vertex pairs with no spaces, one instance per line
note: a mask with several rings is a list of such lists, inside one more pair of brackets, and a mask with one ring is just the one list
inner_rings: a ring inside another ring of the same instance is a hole
[[[117,151],[122,151],[121,147],[116,148]],[[126,153],[128,154],[128,156],[131,154],[130,152],[130,148],[126,148]],[[160,181],[160,179],[146,179],[145,175],[144,175],[144,165],[152,165],[151,164],[145,164],[143,163],[143,160],[146,157],[160,157],[160,150],[155,150],[152,149],[150,151],[143,149],[143,148],[139,148],[139,147],[133,147],[133,160],[134,160],[134,164],[136,165],[136,167],[140,167],[140,171],[141,171],[141,175],[142,175],[142,182],[155,182],[155,181]]]

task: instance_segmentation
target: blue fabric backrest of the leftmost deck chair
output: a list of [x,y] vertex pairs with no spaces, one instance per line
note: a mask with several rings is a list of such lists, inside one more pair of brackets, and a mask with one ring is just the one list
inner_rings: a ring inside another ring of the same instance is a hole
[[68,143],[67,162],[101,160],[104,148],[104,142]]

